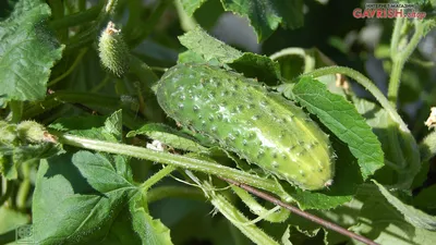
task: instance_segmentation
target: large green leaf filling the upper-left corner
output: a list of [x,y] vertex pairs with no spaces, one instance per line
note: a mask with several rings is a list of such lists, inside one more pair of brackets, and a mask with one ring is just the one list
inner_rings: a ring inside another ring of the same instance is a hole
[[[8,100],[38,100],[63,46],[48,30],[50,8],[43,1],[21,0],[0,23],[0,95]],[[24,41],[23,41],[24,40]]]

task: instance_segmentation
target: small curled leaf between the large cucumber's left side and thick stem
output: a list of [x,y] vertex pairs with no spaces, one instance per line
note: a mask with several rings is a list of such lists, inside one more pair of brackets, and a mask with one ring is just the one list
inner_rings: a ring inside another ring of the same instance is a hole
[[184,135],[177,130],[173,130],[165,124],[150,123],[145,124],[136,131],[131,131],[128,133],[128,137],[133,137],[135,135],[146,135],[153,139],[159,140],[165,145],[174,147],[177,149],[187,150],[187,151],[206,151],[207,148],[203,147],[198,143],[187,138],[189,135]]

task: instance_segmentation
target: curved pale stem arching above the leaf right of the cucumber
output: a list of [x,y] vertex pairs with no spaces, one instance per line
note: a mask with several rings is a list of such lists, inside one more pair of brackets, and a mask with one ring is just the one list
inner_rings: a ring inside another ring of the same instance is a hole
[[377,99],[377,101],[382,105],[382,107],[389,113],[391,119],[399,124],[400,130],[405,133],[410,133],[408,125],[405,125],[404,121],[402,121],[401,117],[398,114],[392,105],[390,105],[390,102],[386,99],[386,97],[382,94],[382,91],[377,88],[377,86],[375,86],[373,82],[366,76],[364,76],[362,73],[344,66],[327,66],[303,74],[302,76],[318,77],[336,73],[350,76],[351,78],[355,79],[360,85],[362,85],[364,88],[366,88],[371,94],[373,94],[373,96]]

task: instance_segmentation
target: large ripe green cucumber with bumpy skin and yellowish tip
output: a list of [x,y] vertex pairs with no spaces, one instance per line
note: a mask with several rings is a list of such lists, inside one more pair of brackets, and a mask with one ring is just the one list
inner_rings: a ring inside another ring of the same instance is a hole
[[164,74],[157,97],[178,123],[279,179],[311,191],[332,182],[327,135],[301,108],[253,79],[217,66],[179,64]]

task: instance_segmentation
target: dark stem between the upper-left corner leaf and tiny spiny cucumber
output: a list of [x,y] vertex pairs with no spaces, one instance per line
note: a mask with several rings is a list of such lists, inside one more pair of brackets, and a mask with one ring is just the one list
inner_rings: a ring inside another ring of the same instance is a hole
[[[102,2],[101,2],[102,3]],[[83,23],[92,22],[97,19],[100,13],[102,4],[92,7],[85,11],[66,15],[59,20],[53,20],[50,27],[53,29],[68,28],[71,26],[81,25]]]

